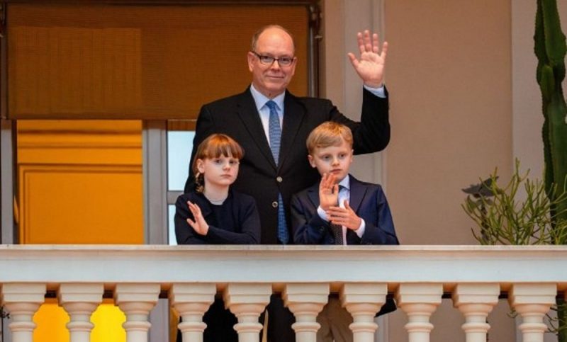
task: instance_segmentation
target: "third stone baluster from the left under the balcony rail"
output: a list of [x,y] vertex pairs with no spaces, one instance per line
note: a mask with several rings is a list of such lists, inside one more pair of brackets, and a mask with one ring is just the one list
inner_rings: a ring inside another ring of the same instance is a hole
[[126,342],[147,342],[150,330],[148,316],[159,299],[159,284],[119,283],[114,290],[114,300],[126,315],[122,325]]

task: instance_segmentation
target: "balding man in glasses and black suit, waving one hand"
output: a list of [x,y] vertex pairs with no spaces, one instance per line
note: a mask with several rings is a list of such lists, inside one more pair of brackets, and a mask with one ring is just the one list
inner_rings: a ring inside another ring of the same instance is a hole
[[[358,33],[357,39],[360,56],[349,53],[349,59],[364,82],[361,122],[345,117],[328,100],[297,97],[286,91],[297,58],[291,34],[278,25],[266,26],[252,38],[247,54],[252,73],[248,89],[201,108],[191,163],[198,144],[212,133],[225,133],[242,145],[245,156],[232,187],[256,200],[261,244],[292,242],[288,224],[291,195],[318,179],[308,164],[305,149],[305,138],[313,128],[327,120],[344,123],[354,134],[356,154],[381,151],[390,140],[388,98],[383,86],[388,45],[384,42],[379,52],[378,35],[368,30]],[[279,121],[277,128],[274,121]],[[189,174],[185,192],[191,190],[193,176]],[[291,313],[286,311],[282,316],[283,311],[274,309],[274,305],[281,307],[281,300],[273,300],[269,307],[269,341],[295,341],[289,328]],[[283,331],[274,330],[281,327]]]

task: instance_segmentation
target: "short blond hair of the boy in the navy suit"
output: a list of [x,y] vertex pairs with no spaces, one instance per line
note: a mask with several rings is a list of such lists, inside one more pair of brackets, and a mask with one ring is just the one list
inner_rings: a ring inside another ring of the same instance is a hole
[[309,154],[313,154],[313,150],[316,148],[324,149],[325,147],[340,146],[343,141],[347,142],[352,148],[352,132],[350,128],[339,122],[326,121],[309,133],[306,144]]

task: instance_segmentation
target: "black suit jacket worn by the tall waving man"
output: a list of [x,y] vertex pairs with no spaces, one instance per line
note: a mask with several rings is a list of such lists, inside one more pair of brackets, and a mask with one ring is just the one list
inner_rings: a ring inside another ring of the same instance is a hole
[[[390,139],[388,98],[378,98],[364,89],[361,122],[345,117],[333,104],[319,98],[299,98],[286,93],[279,165],[271,156],[269,143],[262,127],[254,98],[247,89],[244,93],[208,103],[201,108],[193,139],[191,163],[198,144],[213,133],[224,133],[245,149],[240,161],[240,173],[232,188],[252,195],[258,205],[262,224],[261,244],[278,244],[276,207],[281,193],[286,207],[288,228],[291,195],[318,180],[317,171],[308,163],[305,139],[313,128],[325,121],[337,121],[351,128],[354,136],[354,154],[377,152]],[[185,192],[193,186],[190,172]]]

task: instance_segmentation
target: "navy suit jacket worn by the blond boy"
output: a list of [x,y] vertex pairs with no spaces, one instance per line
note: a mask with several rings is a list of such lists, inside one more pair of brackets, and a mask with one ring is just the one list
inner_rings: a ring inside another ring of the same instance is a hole
[[[350,181],[349,205],[359,217],[364,219],[364,234],[347,229],[347,244],[400,244],[395,236],[392,214],[382,187],[378,184],[365,183],[352,175]],[[319,182],[291,198],[291,220],[295,244],[335,244],[329,222],[320,218]],[[387,314],[395,310],[395,302],[388,297],[376,314]]]

